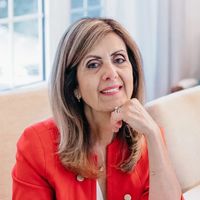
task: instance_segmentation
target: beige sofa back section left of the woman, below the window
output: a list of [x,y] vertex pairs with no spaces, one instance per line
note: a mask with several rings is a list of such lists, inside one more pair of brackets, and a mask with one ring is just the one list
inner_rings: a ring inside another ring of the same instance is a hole
[[11,199],[16,142],[28,125],[51,116],[47,87],[0,94],[0,199]]

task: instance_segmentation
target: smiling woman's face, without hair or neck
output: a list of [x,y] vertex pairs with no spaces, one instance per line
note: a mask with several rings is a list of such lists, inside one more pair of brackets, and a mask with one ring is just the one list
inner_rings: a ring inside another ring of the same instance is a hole
[[78,92],[91,110],[110,112],[130,99],[132,66],[123,40],[107,34],[79,64],[77,79]]

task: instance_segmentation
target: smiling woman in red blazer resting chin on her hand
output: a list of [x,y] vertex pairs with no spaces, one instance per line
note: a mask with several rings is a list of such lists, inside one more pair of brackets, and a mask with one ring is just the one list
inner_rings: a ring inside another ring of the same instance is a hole
[[74,23],[52,71],[53,119],[18,142],[13,199],[181,199],[142,97],[140,53],[128,32],[112,19]]

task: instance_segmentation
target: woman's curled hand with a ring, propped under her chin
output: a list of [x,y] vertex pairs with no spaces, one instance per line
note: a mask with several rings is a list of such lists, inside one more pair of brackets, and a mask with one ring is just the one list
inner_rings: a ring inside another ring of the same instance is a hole
[[136,98],[128,100],[111,113],[111,124],[114,132],[118,132],[122,126],[122,121],[145,136],[159,130],[155,121]]

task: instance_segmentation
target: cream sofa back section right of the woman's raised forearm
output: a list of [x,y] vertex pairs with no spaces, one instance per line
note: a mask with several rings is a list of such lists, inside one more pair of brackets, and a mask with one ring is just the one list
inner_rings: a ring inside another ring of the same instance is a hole
[[170,158],[183,191],[200,184],[200,86],[154,100],[146,108],[165,129]]

